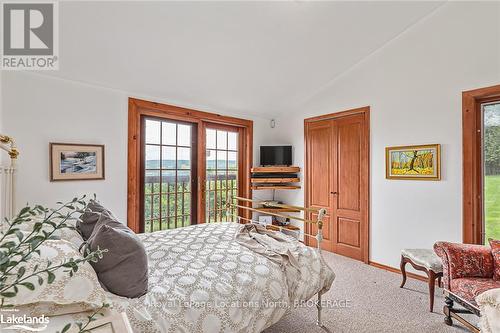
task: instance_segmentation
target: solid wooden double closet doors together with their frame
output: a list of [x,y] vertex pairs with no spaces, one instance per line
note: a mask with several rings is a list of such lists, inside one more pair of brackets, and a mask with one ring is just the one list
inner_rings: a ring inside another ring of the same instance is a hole
[[[322,248],[368,261],[369,108],[306,119],[306,206],[326,208]],[[308,214],[315,220],[315,214]],[[306,227],[315,235],[316,226]],[[316,246],[313,237],[306,238]]]

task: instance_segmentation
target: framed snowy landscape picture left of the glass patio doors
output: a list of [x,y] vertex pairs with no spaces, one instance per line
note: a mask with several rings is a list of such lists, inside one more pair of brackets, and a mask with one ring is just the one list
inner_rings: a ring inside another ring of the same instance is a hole
[[104,179],[104,145],[50,143],[50,181]]

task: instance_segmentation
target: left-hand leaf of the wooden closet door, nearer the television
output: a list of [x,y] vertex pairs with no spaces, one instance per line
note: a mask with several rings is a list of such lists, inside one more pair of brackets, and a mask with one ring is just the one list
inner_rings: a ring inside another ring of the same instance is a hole
[[[332,233],[331,192],[333,188],[332,150],[334,147],[333,121],[323,120],[306,125],[306,195],[311,208],[326,208],[327,214],[323,220],[323,242],[321,248],[334,251]],[[317,214],[307,213],[308,219],[316,220]],[[316,235],[315,225],[307,224],[306,233]],[[316,239],[306,237],[307,244],[316,247]]]

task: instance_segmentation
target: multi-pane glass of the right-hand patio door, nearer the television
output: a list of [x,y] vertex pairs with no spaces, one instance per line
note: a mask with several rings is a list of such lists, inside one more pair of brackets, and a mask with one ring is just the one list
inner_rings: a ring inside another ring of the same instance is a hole
[[[226,200],[229,195],[238,195],[238,132],[206,129],[204,195],[207,222],[232,220],[232,217],[227,216]],[[232,215],[236,215],[236,210]]]

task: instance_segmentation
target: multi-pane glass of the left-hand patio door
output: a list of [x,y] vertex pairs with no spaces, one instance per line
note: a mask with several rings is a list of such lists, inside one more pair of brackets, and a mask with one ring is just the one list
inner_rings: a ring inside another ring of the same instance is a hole
[[194,125],[144,118],[143,126],[144,232],[188,226],[196,218]]

